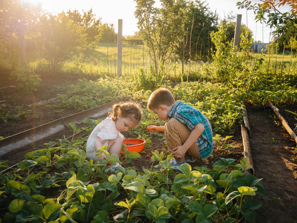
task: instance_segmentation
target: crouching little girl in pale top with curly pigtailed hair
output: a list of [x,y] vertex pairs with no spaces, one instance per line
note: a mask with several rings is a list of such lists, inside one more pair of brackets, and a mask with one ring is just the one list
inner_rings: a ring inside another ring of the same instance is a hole
[[[88,159],[93,161],[100,160],[95,153],[104,145],[108,146],[110,155],[113,153],[119,155],[125,137],[120,132],[127,132],[129,129],[138,125],[141,120],[140,105],[132,102],[114,104],[109,117],[100,122],[92,131],[86,145],[86,154]],[[101,159],[105,159],[101,155]],[[119,164],[117,163],[116,166]]]

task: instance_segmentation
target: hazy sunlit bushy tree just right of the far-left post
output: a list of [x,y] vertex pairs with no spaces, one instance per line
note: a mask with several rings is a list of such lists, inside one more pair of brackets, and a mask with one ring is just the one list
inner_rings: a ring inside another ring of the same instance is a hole
[[74,23],[65,12],[58,15],[44,14],[38,25],[41,52],[53,73],[58,73],[67,59],[89,45],[87,28]]

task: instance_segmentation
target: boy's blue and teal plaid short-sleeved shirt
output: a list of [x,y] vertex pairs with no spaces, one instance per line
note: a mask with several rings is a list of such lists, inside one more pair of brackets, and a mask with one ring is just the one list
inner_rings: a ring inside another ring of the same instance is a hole
[[202,161],[205,161],[213,151],[212,129],[209,120],[198,109],[182,103],[181,100],[174,104],[167,117],[178,119],[181,123],[186,124],[190,130],[193,130],[198,123],[203,124],[204,131],[196,140],[196,145]]

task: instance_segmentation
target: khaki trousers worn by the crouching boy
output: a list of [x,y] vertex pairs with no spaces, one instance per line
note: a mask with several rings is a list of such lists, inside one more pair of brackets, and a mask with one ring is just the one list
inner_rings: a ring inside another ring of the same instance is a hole
[[[190,134],[191,130],[184,123],[181,123],[176,118],[168,120],[165,124],[165,139],[168,150],[173,153],[173,148],[183,145],[189,138]],[[201,161],[196,142],[191,145],[186,154],[196,158],[197,161]],[[183,162],[185,160],[184,157],[175,159],[178,162]]]

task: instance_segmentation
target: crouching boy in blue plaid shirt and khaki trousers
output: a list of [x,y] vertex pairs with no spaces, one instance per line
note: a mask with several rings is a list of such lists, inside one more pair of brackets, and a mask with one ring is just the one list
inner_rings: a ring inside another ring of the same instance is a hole
[[147,131],[165,131],[167,148],[175,157],[173,169],[184,163],[205,161],[213,151],[212,130],[209,120],[192,106],[175,102],[166,88],[158,88],[151,93],[147,105],[157,116],[166,122],[165,126],[150,125]]

